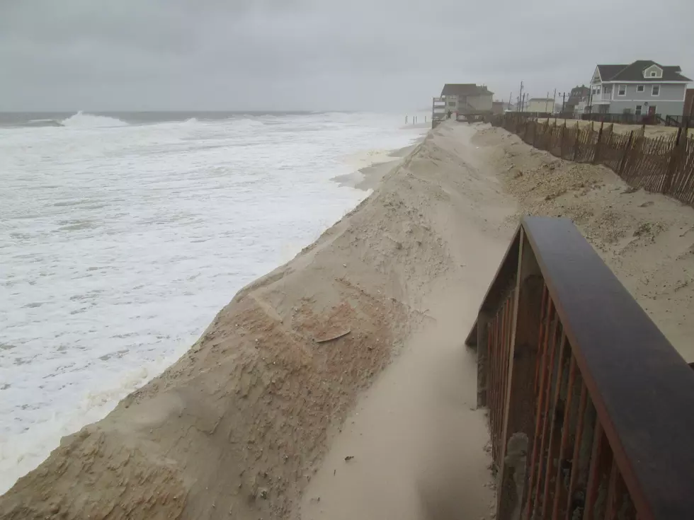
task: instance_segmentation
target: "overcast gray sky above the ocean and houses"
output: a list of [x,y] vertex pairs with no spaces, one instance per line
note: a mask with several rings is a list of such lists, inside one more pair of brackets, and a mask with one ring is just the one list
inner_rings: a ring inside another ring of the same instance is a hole
[[694,77],[694,0],[0,0],[0,110],[414,110],[653,59]]

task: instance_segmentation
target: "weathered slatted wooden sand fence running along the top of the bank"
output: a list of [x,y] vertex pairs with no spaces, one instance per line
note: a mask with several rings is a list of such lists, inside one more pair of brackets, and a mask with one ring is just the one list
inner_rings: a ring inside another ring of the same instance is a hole
[[687,127],[667,136],[645,137],[643,127],[617,134],[613,125],[604,123],[582,128],[578,122],[540,123],[517,112],[494,116],[490,122],[554,156],[604,164],[633,187],[694,205],[694,136],[687,137]]

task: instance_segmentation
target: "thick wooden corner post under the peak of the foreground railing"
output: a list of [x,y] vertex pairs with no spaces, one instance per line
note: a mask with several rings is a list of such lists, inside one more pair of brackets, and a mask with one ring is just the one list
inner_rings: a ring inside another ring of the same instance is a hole
[[540,337],[542,275],[533,249],[520,233],[513,333],[508,357],[508,386],[497,486],[498,520],[520,518],[525,495],[528,446],[535,434],[535,364]]

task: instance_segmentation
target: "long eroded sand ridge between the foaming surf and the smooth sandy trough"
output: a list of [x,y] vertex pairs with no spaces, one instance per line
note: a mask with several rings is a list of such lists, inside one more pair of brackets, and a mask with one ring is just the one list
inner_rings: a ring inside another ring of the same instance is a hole
[[[448,125],[430,134],[316,243],[241,290],[164,374],[62,439],[0,498],[0,516],[297,516],[358,393],[413,333],[436,323],[432,292],[460,289],[463,257],[474,253],[467,239],[488,240],[477,209],[506,204],[496,180],[467,172],[455,151],[471,133]],[[486,264],[484,276],[465,275],[474,306],[496,260]],[[449,318],[459,346],[467,315]],[[474,399],[474,378],[466,384]],[[482,432],[474,446],[484,473],[483,415],[465,410]]]

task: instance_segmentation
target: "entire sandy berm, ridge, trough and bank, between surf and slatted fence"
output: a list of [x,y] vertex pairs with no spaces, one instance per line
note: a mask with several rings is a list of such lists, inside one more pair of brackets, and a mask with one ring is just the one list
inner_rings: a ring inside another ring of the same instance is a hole
[[463,341],[524,213],[574,219],[694,361],[691,208],[447,122],[164,374],[62,439],[0,518],[490,518]]

